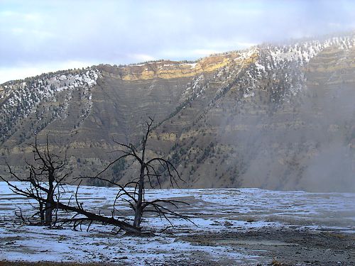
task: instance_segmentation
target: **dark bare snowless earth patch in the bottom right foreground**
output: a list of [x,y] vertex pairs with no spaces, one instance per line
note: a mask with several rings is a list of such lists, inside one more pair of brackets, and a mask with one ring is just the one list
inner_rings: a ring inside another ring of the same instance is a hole
[[[350,233],[269,228],[241,233],[197,233],[182,240],[244,250],[258,256],[255,265],[355,265],[355,234]],[[228,265],[223,258],[217,263]]]

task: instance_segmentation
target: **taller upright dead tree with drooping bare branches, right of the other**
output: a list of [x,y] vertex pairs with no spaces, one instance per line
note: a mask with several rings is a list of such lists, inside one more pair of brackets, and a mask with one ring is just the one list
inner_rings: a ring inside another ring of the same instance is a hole
[[[183,218],[187,221],[190,221],[188,216],[178,214],[176,211],[173,211],[172,208],[178,208],[179,204],[187,204],[184,201],[177,201],[177,200],[168,200],[168,199],[155,199],[153,201],[147,201],[145,199],[145,189],[146,184],[149,184],[151,188],[152,179],[157,180],[159,187],[160,185],[160,178],[162,177],[161,172],[158,172],[158,167],[162,168],[165,172],[167,172],[168,178],[170,179],[170,184],[172,187],[178,187],[178,180],[183,180],[180,178],[180,174],[174,167],[174,165],[169,161],[165,160],[163,157],[153,157],[151,159],[146,158],[146,144],[148,141],[149,134],[153,129],[153,118],[149,118],[150,121],[146,123],[147,130],[146,135],[144,135],[141,149],[138,150],[133,144],[124,144],[114,141],[114,143],[121,146],[121,149],[116,150],[116,152],[121,153],[122,155],[119,156],[116,160],[111,162],[104,170],[99,172],[96,177],[82,177],[82,178],[92,178],[92,179],[100,179],[105,182],[109,182],[110,184],[114,184],[119,187],[119,192],[116,194],[116,199],[114,202],[114,206],[118,199],[124,199],[124,201],[128,202],[131,209],[134,211],[134,220],[133,220],[133,227],[138,228],[141,231],[141,222],[143,218],[143,214],[145,212],[151,212],[158,214],[160,218],[165,218],[170,225],[173,226],[173,223],[170,221],[170,217],[178,217]],[[108,179],[105,179],[102,176],[104,172],[106,172],[109,167],[114,165],[119,160],[122,160],[126,157],[132,157],[133,160],[138,162],[139,165],[139,176],[136,179],[131,180],[130,182],[120,185],[116,182],[112,182]],[[128,189],[129,187],[133,187],[134,190],[131,191]],[[113,210],[113,213],[116,210]],[[192,222],[192,221],[191,221]]]

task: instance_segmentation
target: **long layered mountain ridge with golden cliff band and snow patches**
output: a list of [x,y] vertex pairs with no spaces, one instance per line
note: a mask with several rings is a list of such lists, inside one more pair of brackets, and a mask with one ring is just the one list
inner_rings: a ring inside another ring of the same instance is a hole
[[[112,139],[138,143],[153,116],[149,153],[170,157],[183,186],[355,191],[354,43],[346,35],[6,82],[0,156],[21,170],[26,143],[49,134],[73,174],[92,173],[114,158]],[[128,180],[130,164],[109,177]]]

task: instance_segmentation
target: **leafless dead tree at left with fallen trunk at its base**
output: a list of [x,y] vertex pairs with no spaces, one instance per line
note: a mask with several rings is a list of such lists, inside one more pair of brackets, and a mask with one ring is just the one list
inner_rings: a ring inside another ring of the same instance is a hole
[[[89,230],[92,222],[98,221],[118,226],[129,233],[140,232],[129,223],[119,221],[114,216],[107,217],[85,210],[83,203],[78,199],[80,184],[77,185],[75,194],[72,194],[70,199],[66,203],[63,203],[61,196],[66,193],[64,182],[68,175],[65,173],[65,167],[67,166],[66,153],[65,157],[61,159],[59,155],[50,152],[48,137],[45,148],[39,148],[37,138],[35,138],[35,144],[31,145],[31,148],[33,148],[33,162],[26,160],[28,170],[26,177],[19,177],[18,174],[13,172],[10,165],[7,164],[10,177],[17,181],[26,182],[26,188],[21,188],[0,175],[0,179],[8,184],[12,192],[26,196],[28,199],[34,199],[37,202],[37,204],[31,204],[35,209],[35,214],[30,218],[23,217],[20,207],[19,216],[24,222],[37,224],[33,222],[33,218],[39,216],[40,224],[45,226],[55,226],[57,223],[60,225],[70,223],[76,228],[77,226],[81,227],[83,223],[87,223],[87,230]],[[74,205],[70,202],[72,198],[75,198]],[[58,210],[64,211],[65,215],[58,218]],[[54,219],[53,214],[55,214]],[[67,218],[68,215],[70,218]]]

